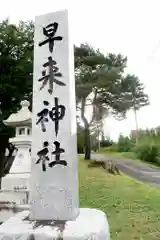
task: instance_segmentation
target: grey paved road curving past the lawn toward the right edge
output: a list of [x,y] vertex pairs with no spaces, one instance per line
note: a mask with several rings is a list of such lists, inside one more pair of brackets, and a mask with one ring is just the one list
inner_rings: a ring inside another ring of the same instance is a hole
[[97,161],[112,160],[117,164],[119,170],[126,175],[160,187],[160,168],[158,167],[148,166],[145,163],[141,164],[131,159],[119,159],[102,154],[92,154],[91,158],[97,159]]

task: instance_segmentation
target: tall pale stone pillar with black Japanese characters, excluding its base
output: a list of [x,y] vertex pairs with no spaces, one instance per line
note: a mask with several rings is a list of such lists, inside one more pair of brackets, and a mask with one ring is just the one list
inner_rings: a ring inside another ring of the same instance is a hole
[[[52,35],[53,51],[45,31]],[[79,199],[74,54],[68,11],[36,17],[34,40],[30,218],[74,220]]]

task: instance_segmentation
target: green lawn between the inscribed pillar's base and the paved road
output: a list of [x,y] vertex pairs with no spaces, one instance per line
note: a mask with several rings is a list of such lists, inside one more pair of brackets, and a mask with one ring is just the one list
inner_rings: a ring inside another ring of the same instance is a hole
[[80,206],[103,210],[112,240],[160,239],[160,190],[79,161]]

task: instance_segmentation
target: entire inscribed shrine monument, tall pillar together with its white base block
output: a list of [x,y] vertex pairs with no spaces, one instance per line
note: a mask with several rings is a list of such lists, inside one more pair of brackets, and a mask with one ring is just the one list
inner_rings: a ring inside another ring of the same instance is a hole
[[[105,214],[79,208],[74,54],[68,11],[36,17],[30,211],[0,227],[0,240],[109,239]],[[8,231],[9,229],[9,231]]]

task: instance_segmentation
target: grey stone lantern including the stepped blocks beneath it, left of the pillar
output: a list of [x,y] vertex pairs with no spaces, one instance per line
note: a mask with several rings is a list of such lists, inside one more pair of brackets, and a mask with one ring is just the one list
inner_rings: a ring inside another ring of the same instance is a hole
[[9,141],[16,147],[14,161],[9,174],[2,178],[0,190],[0,222],[22,211],[29,203],[29,180],[31,173],[31,112],[29,102],[21,102],[21,109],[12,114],[4,123],[15,128],[15,137]]

